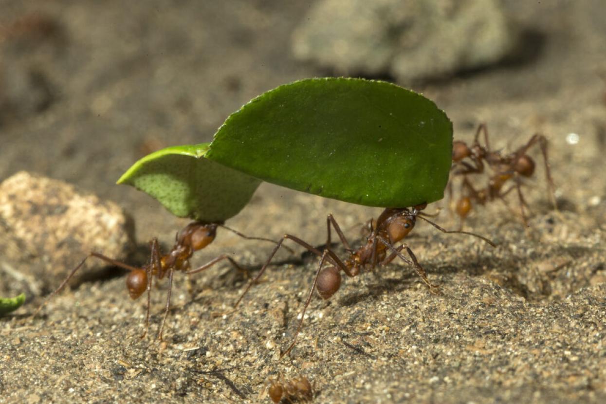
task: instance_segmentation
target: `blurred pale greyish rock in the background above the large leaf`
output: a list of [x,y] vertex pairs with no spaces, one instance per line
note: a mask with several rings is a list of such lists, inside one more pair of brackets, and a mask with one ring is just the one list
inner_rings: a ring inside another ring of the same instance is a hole
[[497,62],[513,48],[496,0],[323,0],[293,33],[296,58],[401,82]]

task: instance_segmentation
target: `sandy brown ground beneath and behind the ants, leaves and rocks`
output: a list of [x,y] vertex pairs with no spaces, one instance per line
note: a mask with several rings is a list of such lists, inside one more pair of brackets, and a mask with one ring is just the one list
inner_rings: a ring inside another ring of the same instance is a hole
[[[538,172],[525,193],[530,229],[499,204],[479,207],[467,227],[497,242],[494,249],[419,224],[409,243],[441,296],[405,265],[346,279],[331,300],[312,300],[298,345],[283,359],[317,265],[301,251],[282,253],[284,263],[235,313],[244,282],[227,265],[190,281],[178,274],[162,343],[153,337],[165,283],[153,293],[151,336],[142,340],[145,302],[128,298],[123,277],[67,291],[35,320],[27,317],[42,298],[28,296],[0,319],[0,402],[270,402],[265,383],[278,372],[307,376],[315,402],[606,400],[606,84],[598,75],[606,70],[606,12],[599,1],[545,3],[507,2],[533,34],[533,57],[416,90],[447,111],[456,138],[471,139],[482,121],[494,148],[544,133],[559,213],[535,150]],[[154,145],[209,141],[262,91],[330,75],[290,54],[290,33],[308,7],[0,3],[0,25],[42,10],[48,21],[36,29],[51,38],[27,37],[27,52],[2,44],[5,77],[27,71],[30,79],[0,114],[0,179],[30,170],[67,180],[132,215],[142,247],[153,236],[170,245],[187,220],[115,180]],[[228,224],[321,244],[330,212],[350,240],[361,240],[360,224],[380,210],[262,185]],[[457,225],[447,210],[436,221]],[[225,252],[258,268],[269,251],[219,230],[192,263]],[[3,296],[25,287],[6,271],[0,284]]]

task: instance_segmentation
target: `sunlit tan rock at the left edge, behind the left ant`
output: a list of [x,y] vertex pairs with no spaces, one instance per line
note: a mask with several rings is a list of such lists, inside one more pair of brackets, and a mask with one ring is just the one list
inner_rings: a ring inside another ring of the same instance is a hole
[[[118,205],[60,180],[21,171],[0,184],[0,265],[27,279],[33,293],[55,290],[90,251],[123,260],[132,233]],[[107,266],[87,260],[72,285]]]

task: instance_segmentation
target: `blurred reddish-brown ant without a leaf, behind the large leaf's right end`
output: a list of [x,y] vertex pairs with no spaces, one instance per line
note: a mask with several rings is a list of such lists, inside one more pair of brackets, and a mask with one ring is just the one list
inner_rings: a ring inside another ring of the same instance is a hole
[[[479,142],[479,136],[484,133],[484,143],[482,146]],[[524,207],[528,208],[528,204],[522,195],[521,185],[522,177],[531,177],[534,174],[534,160],[528,156],[528,149],[535,144],[539,145],[543,160],[545,162],[545,176],[550,192],[551,201],[556,207],[554,197],[554,184],[551,179],[551,171],[547,157],[547,139],[542,134],[534,134],[530,140],[510,154],[501,154],[498,151],[491,151],[488,143],[488,130],[485,124],[478,126],[476,135],[474,136],[473,144],[468,146],[465,142],[453,142],[453,176],[462,176],[461,195],[456,202],[456,213],[461,218],[461,227],[465,218],[471,211],[473,203],[485,205],[492,200],[501,200],[509,208],[505,201],[505,196],[512,190],[518,193],[522,220],[527,225],[527,216]],[[467,160],[467,161],[466,161]],[[476,190],[468,179],[469,174],[484,173],[484,164],[491,168],[493,174],[488,177],[488,184],[481,190]],[[511,185],[507,190],[504,190],[505,184],[513,180],[515,184]],[[451,187],[451,186],[450,186]],[[451,189],[451,188],[450,188]]]

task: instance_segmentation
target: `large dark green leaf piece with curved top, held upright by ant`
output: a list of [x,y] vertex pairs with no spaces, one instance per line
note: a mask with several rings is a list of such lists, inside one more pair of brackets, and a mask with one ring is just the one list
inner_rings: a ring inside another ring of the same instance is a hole
[[208,159],[355,204],[409,207],[444,196],[452,123],[436,105],[381,81],[281,85],[231,114]]

